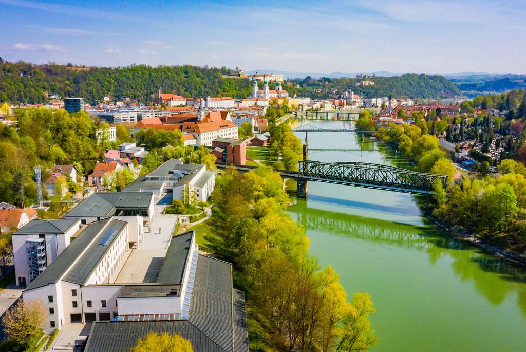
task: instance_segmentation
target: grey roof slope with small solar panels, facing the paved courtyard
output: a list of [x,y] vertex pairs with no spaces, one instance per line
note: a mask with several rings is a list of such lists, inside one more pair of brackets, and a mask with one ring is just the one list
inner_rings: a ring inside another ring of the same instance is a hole
[[[70,283],[78,285],[85,285],[87,279],[98,266],[104,255],[109,251],[109,248],[112,246],[115,239],[119,236],[119,234],[126,227],[126,225],[128,225],[128,223],[121,220],[116,220],[112,218],[108,218],[106,220],[109,220],[109,224],[104,230],[102,230],[102,226],[92,228],[88,226],[80,234],[80,236],[82,236],[84,232],[87,231],[88,234],[84,234],[85,236],[89,236],[92,238],[93,236],[97,236],[97,238],[93,241],[92,245],[89,246],[84,255],[80,257],[77,263],[75,263],[75,265],[64,276],[64,281],[68,281]],[[103,221],[104,220],[101,220],[101,222]],[[100,240],[112,230],[113,234],[109,236],[106,244],[99,244]]]

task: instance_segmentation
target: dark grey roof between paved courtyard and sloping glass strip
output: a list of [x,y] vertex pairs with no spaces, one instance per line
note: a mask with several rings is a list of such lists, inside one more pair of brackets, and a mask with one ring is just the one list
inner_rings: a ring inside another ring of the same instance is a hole
[[157,283],[168,285],[183,283],[185,268],[188,260],[190,260],[188,258],[189,246],[193,236],[195,236],[195,232],[189,231],[171,238],[165,260],[159,270]]

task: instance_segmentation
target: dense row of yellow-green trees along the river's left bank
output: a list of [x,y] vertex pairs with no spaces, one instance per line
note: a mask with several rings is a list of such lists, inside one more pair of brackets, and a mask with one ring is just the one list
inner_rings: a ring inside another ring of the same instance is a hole
[[233,263],[235,285],[247,292],[249,330],[261,324],[272,341],[251,336],[251,350],[367,350],[377,341],[370,296],[357,293],[348,301],[332,268],[319,269],[304,229],[284,212],[288,196],[281,185],[266,167],[246,174],[227,169],[213,193],[218,252]]

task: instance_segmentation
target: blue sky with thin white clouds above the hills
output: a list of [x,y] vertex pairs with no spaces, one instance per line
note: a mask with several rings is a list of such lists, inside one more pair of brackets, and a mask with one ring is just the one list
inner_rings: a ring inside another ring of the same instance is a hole
[[96,66],[526,73],[524,0],[0,0],[0,56]]

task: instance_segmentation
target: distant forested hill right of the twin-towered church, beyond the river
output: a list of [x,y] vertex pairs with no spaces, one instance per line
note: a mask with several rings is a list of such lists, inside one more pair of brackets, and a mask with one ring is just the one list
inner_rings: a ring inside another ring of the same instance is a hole
[[[355,82],[374,81],[374,85],[355,86]],[[363,93],[364,97],[396,98],[454,98],[460,96],[460,90],[448,79],[442,76],[405,74],[396,77],[361,78],[325,78],[295,80],[304,89],[343,89],[351,88],[355,93]],[[327,84],[326,84],[327,82]],[[322,97],[322,93],[313,93],[312,97]]]

